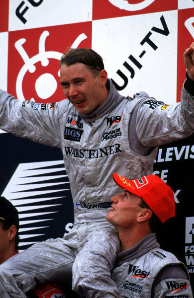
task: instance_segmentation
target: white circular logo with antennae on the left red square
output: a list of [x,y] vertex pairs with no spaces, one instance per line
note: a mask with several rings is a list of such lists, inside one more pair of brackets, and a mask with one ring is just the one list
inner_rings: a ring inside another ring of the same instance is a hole
[[[47,30],[42,32],[39,40],[39,53],[32,58],[28,57],[23,47],[23,44],[26,42],[25,38],[21,38],[15,42],[15,48],[24,61],[24,65],[20,69],[16,80],[17,98],[22,101],[48,101],[57,90],[57,81],[60,76],[60,71],[51,72],[57,69],[63,54],[56,51],[45,50],[45,41],[48,36],[49,32]],[[87,36],[84,33],[80,34],[71,47],[77,48],[86,38]],[[29,93],[29,81],[35,86],[34,91],[31,90],[34,96],[26,98],[26,94]]]

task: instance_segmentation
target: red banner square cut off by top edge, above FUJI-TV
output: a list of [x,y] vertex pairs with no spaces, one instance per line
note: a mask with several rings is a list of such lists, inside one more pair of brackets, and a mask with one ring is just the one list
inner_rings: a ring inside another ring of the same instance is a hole
[[93,0],[93,20],[173,9],[177,0]]

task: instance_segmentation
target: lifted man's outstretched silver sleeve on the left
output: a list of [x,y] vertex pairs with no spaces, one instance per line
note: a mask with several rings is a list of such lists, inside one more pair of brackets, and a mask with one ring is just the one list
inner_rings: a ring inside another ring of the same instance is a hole
[[15,136],[60,147],[58,103],[20,101],[0,90],[0,128]]

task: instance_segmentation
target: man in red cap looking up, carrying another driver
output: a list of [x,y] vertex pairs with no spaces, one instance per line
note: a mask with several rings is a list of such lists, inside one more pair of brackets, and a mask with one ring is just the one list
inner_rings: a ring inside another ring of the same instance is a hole
[[161,249],[154,233],[175,216],[173,191],[155,175],[129,180],[113,173],[113,179],[123,192],[111,199],[106,219],[121,239],[112,278],[122,298],[192,298],[185,264]]

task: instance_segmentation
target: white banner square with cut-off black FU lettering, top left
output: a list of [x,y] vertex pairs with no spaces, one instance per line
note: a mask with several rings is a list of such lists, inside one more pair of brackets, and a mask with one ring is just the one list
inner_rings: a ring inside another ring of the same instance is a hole
[[9,31],[92,20],[92,0],[10,0]]

